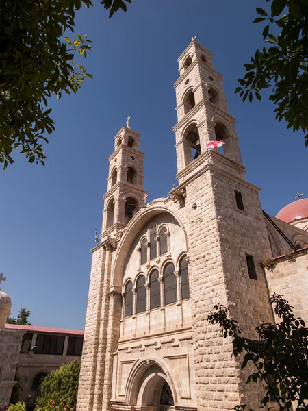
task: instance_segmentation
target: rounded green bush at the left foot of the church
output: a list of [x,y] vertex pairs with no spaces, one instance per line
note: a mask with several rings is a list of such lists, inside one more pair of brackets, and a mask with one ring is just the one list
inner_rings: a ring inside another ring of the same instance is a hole
[[[79,382],[80,364],[77,360],[64,364],[44,378],[40,388],[40,397],[36,399],[37,409],[51,410],[52,406],[60,409],[75,410]],[[53,402],[51,402],[52,400]]]

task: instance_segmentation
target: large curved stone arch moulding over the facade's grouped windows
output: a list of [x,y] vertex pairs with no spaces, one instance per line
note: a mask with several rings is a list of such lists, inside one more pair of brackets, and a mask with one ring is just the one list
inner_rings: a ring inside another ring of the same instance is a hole
[[135,218],[132,219],[131,223],[127,226],[127,231],[125,232],[120,246],[116,251],[114,266],[111,273],[110,290],[121,292],[123,275],[125,272],[125,262],[127,260],[127,256],[129,255],[133,240],[135,240],[136,236],[138,236],[140,231],[147,223],[153,220],[155,216],[162,213],[170,214],[170,216],[172,216],[172,218],[177,221],[179,227],[181,227],[181,229],[183,230],[186,249],[188,248],[188,236],[183,223],[173,211],[166,208],[163,202],[156,203],[155,205],[152,205],[151,208],[142,209],[142,212],[136,214]]

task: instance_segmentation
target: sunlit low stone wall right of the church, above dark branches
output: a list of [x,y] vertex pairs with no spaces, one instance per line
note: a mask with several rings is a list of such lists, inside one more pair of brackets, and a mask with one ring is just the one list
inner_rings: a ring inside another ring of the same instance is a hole
[[294,315],[300,316],[308,326],[308,247],[290,254],[292,260],[284,256],[274,258],[272,269],[265,269],[270,294],[283,295]]

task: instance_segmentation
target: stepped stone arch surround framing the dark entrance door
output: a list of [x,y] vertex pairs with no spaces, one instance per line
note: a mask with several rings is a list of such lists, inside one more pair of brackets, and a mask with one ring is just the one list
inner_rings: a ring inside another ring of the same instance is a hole
[[179,382],[177,376],[166,362],[149,358],[136,362],[127,379],[125,397],[129,406],[157,406],[159,409],[159,388],[164,382],[170,387],[172,397],[177,404],[179,401]]

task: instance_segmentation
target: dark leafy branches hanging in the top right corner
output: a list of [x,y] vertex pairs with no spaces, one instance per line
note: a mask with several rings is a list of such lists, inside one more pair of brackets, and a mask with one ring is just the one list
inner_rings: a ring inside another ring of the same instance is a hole
[[[293,131],[308,131],[308,0],[266,0],[270,14],[257,8],[259,17],[253,23],[266,21],[263,39],[268,47],[257,50],[246,75],[238,80],[243,101],[248,97],[261,100],[261,90],[272,88],[269,99],[274,101],[276,119],[285,119]],[[287,12],[283,14],[283,12]],[[270,33],[279,31],[278,36]],[[270,47],[269,47],[270,46]],[[253,94],[254,93],[254,94]],[[308,147],[308,134],[305,136]]]

